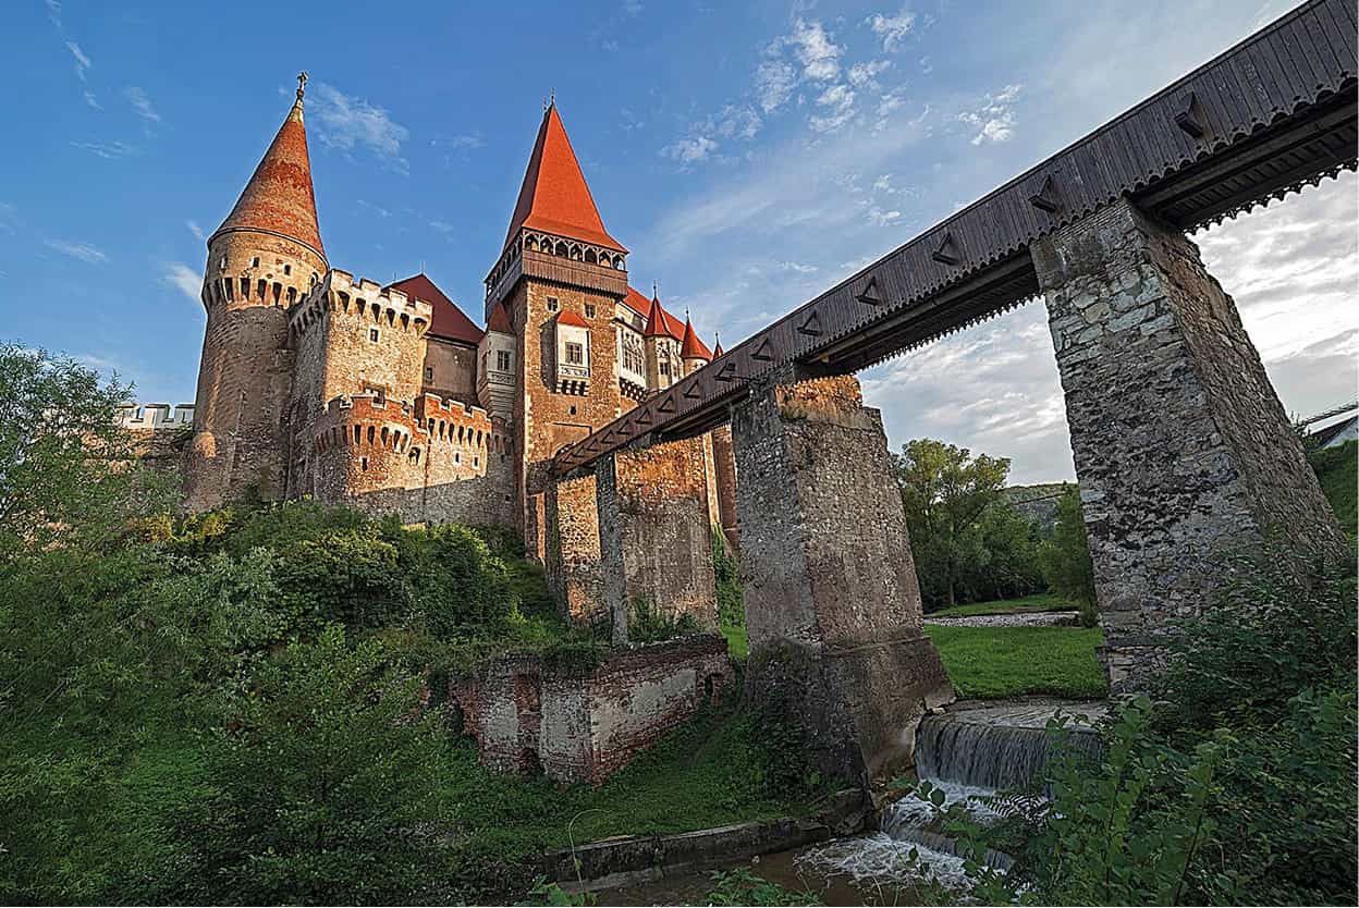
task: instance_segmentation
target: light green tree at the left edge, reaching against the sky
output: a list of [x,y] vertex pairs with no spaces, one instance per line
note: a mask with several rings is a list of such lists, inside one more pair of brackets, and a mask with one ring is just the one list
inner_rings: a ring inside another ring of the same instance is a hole
[[54,544],[106,546],[169,503],[116,424],[130,391],[73,359],[0,345],[0,565]]

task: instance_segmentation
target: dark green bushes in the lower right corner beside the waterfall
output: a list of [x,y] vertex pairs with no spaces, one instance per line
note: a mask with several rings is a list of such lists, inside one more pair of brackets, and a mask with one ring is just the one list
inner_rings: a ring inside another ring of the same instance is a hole
[[1151,696],[1104,726],[1098,764],[1068,750],[1052,801],[1004,795],[996,826],[945,818],[974,862],[988,845],[1017,856],[1010,873],[969,863],[976,901],[1354,903],[1354,563],[1299,572],[1276,551],[1226,567]]

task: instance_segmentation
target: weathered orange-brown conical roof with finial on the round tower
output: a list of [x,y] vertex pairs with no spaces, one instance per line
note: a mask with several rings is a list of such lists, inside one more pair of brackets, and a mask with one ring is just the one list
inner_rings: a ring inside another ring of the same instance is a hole
[[298,99],[292,103],[292,110],[260,159],[236,207],[213,237],[231,230],[261,230],[296,239],[325,258],[321,227],[317,224],[317,196],[311,188],[307,128],[302,122],[302,86],[306,84],[306,76],[299,76],[298,80]]

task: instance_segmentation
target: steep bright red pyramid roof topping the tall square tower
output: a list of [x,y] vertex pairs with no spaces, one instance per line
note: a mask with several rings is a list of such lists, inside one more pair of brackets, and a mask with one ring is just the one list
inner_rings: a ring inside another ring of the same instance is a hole
[[519,234],[520,227],[628,251],[603,228],[594,196],[590,194],[576,152],[572,151],[557,114],[557,105],[549,106],[542,114],[529,169],[519,186],[519,201],[510,219],[506,246]]

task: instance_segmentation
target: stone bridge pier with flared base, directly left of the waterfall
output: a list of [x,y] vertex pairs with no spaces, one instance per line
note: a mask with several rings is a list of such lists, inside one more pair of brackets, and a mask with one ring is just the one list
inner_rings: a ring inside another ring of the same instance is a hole
[[800,724],[824,769],[890,779],[953,688],[921,631],[881,416],[852,375],[787,370],[734,406],[731,434],[747,695]]

